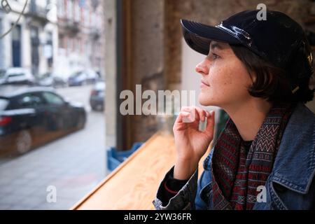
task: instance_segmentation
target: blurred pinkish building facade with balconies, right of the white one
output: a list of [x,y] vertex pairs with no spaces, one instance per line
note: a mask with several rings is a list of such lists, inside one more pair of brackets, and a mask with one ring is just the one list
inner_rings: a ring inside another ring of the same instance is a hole
[[93,69],[104,76],[103,6],[99,0],[58,0],[57,70]]

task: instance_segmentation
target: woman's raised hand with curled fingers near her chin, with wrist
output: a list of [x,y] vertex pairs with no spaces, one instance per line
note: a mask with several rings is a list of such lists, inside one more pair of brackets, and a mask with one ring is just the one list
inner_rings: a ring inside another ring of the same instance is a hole
[[[207,120],[204,132],[199,130],[200,121]],[[214,111],[209,113],[195,106],[183,107],[175,121],[175,146],[177,152],[174,178],[189,179],[214,138]]]

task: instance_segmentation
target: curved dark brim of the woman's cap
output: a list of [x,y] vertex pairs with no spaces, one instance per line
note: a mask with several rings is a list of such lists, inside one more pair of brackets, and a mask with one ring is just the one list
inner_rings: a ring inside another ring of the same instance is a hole
[[181,27],[186,43],[202,55],[209,54],[211,41],[240,44],[237,38],[218,27],[211,27],[190,20],[181,20]]

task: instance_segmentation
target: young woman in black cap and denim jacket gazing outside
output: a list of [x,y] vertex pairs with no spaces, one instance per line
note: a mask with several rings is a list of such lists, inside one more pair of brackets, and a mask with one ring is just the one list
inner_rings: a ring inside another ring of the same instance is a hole
[[267,11],[267,20],[258,20],[257,13],[237,13],[216,27],[181,20],[186,43],[207,55],[196,66],[200,104],[219,106],[230,119],[197,180],[214,137],[214,111],[181,110],[176,163],[156,209],[315,208],[315,116],[304,106],[314,97],[311,48],[287,15]]

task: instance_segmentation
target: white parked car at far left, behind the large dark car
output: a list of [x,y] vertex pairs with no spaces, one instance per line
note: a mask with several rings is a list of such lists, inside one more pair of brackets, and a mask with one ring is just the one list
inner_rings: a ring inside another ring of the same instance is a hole
[[36,80],[29,69],[24,68],[10,68],[0,77],[0,84],[36,84]]

